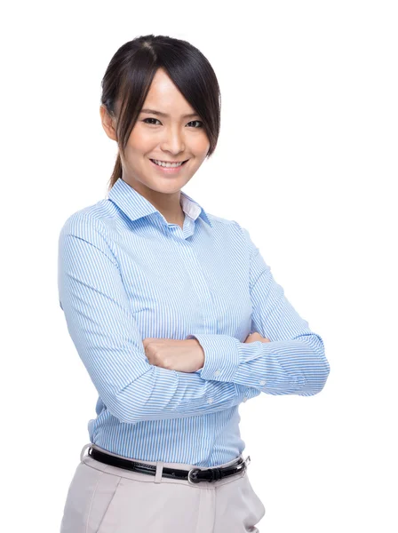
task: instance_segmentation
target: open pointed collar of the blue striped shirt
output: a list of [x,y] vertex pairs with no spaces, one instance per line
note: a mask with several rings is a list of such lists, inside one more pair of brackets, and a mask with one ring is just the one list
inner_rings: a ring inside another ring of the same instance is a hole
[[[131,187],[122,178],[115,181],[114,186],[110,189],[108,195],[109,200],[112,200],[131,220],[137,220],[141,217],[146,217],[152,213],[159,212],[147,198],[140,195],[135,188]],[[195,220],[198,217],[204,220],[210,227],[213,227],[211,219],[209,219],[206,211],[199,203],[195,202],[191,196],[181,191],[181,207],[187,213],[188,217]]]

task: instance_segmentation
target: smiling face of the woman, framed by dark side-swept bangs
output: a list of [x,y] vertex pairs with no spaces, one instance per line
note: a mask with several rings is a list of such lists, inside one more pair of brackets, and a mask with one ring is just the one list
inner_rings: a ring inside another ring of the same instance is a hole
[[[178,192],[201,166],[210,148],[201,117],[163,68],[156,71],[142,109],[164,115],[141,110],[122,156],[123,180],[141,194],[146,188],[166,194]],[[168,172],[151,159],[187,163],[178,171]]]

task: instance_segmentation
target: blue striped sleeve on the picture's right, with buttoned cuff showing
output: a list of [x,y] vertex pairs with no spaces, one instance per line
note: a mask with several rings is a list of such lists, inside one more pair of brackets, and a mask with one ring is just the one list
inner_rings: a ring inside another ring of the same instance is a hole
[[254,387],[267,394],[317,394],[330,373],[322,338],[285,297],[249,232],[234,223],[249,253],[251,332],[271,342],[242,343],[228,335],[193,332],[187,338],[196,338],[204,352],[199,374],[204,380]]

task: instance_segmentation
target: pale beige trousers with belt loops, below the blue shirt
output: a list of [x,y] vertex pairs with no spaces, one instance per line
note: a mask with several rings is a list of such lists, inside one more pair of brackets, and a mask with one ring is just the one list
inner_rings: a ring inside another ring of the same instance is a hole
[[96,444],[84,445],[60,533],[259,532],[256,524],[266,509],[251,487],[247,469],[219,481],[191,484],[162,478],[162,468],[188,470],[195,465],[142,461],[156,465],[152,476],[100,463],[84,455],[89,446],[109,453]]

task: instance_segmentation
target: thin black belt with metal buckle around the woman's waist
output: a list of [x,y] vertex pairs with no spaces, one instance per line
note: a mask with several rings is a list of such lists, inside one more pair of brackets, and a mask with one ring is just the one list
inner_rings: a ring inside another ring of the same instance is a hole
[[[147,463],[139,463],[132,459],[123,459],[122,457],[115,457],[109,455],[99,449],[89,448],[88,454],[90,457],[101,463],[107,465],[117,466],[118,468],[125,468],[126,470],[132,470],[133,472],[147,473],[149,475],[155,475],[156,465],[147,465]],[[179,470],[177,468],[168,468],[163,466],[162,477],[170,478],[174,480],[187,480],[190,483],[199,483],[200,481],[219,481],[222,478],[229,477],[236,473],[243,472],[251,462],[251,457],[248,456],[245,459],[238,457],[234,463],[228,466],[211,467],[201,470],[200,468],[191,468],[191,470]]]

